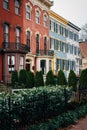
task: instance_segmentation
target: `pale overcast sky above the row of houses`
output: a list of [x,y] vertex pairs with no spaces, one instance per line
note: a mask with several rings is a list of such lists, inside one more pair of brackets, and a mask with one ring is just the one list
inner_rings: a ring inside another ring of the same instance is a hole
[[53,0],[51,10],[78,27],[87,23],[87,0]]

